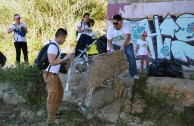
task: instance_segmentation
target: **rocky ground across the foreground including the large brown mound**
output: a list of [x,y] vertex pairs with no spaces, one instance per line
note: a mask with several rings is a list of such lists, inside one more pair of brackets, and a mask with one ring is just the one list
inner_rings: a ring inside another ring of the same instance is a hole
[[[59,126],[194,126],[194,81],[146,74],[134,80],[124,59],[122,52],[96,56],[87,72],[71,76]],[[67,74],[60,74],[60,78],[66,87]],[[0,126],[44,126],[46,96],[40,93],[44,87],[28,82],[21,90],[28,94],[27,100],[21,96],[24,92],[17,92],[18,86],[0,83]],[[88,96],[88,89],[93,89],[93,109],[77,105],[78,99]],[[26,102],[36,100],[32,96],[40,101],[30,106]]]

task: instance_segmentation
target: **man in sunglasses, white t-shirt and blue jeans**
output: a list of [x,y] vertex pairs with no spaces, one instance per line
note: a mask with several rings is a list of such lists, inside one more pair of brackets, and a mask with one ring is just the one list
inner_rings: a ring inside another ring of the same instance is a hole
[[137,73],[137,65],[133,50],[133,43],[130,43],[131,32],[128,24],[122,21],[121,15],[114,15],[112,20],[113,25],[108,27],[107,39],[110,51],[124,49],[129,63],[129,73],[135,79],[139,79]]

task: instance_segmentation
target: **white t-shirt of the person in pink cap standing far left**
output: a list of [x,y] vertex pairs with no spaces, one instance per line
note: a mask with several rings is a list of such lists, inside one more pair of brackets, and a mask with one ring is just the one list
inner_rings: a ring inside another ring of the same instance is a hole
[[[10,26],[12,30],[15,29],[17,24],[15,22]],[[18,25],[17,25],[18,26]],[[20,22],[19,26],[26,27],[26,24],[24,22]],[[26,42],[26,36],[22,37],[18,33],[14,32],[14,42]]]

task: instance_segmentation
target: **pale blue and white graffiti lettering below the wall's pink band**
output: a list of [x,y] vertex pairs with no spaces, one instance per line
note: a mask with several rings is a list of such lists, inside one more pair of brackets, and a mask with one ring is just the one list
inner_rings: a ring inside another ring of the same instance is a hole
[[194,65],[194,15],[192,13],[178,16],[167,14],[164,18],[155,15],[124,21],[130,25],[134,43],[140,39],[142,31],[148,32],[147,40],[152,58],[171,59],[173,57],[183,65]]

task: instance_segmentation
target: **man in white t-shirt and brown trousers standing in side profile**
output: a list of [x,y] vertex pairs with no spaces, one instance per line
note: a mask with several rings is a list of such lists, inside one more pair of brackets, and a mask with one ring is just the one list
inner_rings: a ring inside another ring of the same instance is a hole
[[55,44],[49,45],[47,50],[50,65],[43,72],[43,78],[46,83],[48,92],[47,96],[48,125],[56,122],[55,117],[64,94],[64,89],[61,80],[58,76],[60,64],[69,60],[70,57],[73,57],[73,55],[70,54],[66,55],[63,59],[60,59],[61,48],[59,45],[62,45],[64,43],[66,36],[67,31],[64,30],[63,28],[59,28],[55,33],[55,39],[51,41],[56,45]]

